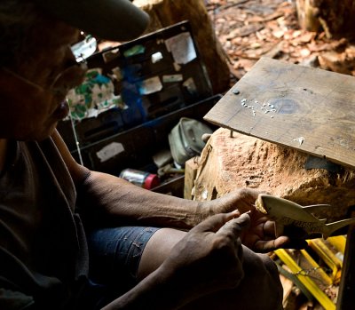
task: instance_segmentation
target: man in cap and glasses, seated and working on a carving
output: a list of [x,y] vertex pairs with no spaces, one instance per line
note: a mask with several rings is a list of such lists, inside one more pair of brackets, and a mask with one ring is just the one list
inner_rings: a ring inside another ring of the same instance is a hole
[[155,194],[75,163],[55,131],[85,73],[74,27],[122,41],[147,21],[127,0],[2,0],[2,310],[280,308],[277,269],[252,250],[289,240],[254,210],[255,191]]

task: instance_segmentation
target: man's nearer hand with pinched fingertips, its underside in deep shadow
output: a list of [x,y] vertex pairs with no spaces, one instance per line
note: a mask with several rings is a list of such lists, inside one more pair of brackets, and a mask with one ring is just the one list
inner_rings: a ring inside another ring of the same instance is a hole
[[217,214],[204,220],[171,250],[162,267],[170,270],[187,298],[216,290],[232,289],[243,278],[241,234],[248,229],[249,217],[235,213]]

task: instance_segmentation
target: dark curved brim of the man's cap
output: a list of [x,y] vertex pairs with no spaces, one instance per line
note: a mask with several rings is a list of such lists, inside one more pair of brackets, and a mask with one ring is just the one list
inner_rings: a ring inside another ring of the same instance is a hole
[[149,23],[146,12],[129,0],[36,0],[45,12],[101,39],[130,41]]

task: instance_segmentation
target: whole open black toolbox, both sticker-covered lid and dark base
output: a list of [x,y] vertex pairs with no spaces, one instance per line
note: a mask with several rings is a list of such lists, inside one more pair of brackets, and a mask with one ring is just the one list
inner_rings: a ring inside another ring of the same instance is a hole
[[180,118],[202,121],[221,98],[212,96],[188,21],[93,54],[87,63],[83,84],[68,94],[70,118],[58,129],[75,159],[92,170],[157,173],[152,157],[170,149],[168,135]]

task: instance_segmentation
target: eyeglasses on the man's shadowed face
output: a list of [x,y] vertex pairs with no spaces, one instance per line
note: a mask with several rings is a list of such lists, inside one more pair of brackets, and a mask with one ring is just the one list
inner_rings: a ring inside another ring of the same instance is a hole
[[85,60],[77,61],[75,65],[61,71],[59,75],[53,79],[53,82],[48,88],[43,88],[43,86],[28,80],[26,77],[20,76],[9,68],[2,69],[8,74],[18,78],[20,81],[27,83],[40,91],[51,91],[54,96],[66,96],[68,91],[82,83],[88,67]]

